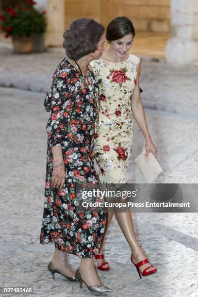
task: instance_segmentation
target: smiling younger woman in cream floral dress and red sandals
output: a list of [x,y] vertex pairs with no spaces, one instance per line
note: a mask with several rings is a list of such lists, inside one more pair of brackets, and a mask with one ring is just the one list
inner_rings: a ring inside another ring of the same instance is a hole
[[[129,50],[132,47],[134,27],[125,16],[116,17],[108,27],[106,39],[110,45],[99,60],[91,62],[99,85],[99,127],[95,133],[95,168],[102,183],[128,183],[127,169],[132,153],[132,114],[146,140],[146,158],[156,148],[148,132],[144,108],[140,100],[140,59]],[[109,223],[113,213],[109,213]],[[156,272],[139,246],[133,230],[131,212],[115,213],[118,224],[132,250],[131,260],[139,275]],[[108,270],[102,253],[96,255],[98,268]]]

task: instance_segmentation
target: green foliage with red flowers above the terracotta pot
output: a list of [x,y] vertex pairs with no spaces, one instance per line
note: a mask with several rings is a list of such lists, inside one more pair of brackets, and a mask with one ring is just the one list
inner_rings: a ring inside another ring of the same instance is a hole
[[5,37],[30,37],[33,33],[44,33],[46,11],[38,11],[33,5],[36,2],[27,0],[24,5],[6,8],[0,15],[1,30]]

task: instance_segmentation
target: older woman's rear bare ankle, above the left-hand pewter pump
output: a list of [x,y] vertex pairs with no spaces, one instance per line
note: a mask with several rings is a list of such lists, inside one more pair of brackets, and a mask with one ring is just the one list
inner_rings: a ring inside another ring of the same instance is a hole
[[67,262],[67,253],[55,248],[52,263],[56,268],[68,277],[75,276],[75,271],[70,267]]

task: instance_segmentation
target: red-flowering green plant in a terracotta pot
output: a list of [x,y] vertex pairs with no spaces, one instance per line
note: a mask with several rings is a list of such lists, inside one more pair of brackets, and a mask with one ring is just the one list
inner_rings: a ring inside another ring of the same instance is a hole
[[15,53],[32,52],[33,35],[45,32],[46,11],[38,11],[35,4],[35,1],[27,0],[24,5],[6,8],[0,15],[1,30],[5,37],[11,36]]

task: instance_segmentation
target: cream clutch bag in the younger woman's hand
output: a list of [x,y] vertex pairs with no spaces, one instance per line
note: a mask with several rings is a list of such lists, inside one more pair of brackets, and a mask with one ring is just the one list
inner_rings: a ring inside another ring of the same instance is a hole
[[145,154],[146,149],[144,149],[141,154],[135,159],[135,163],[139,167],[146,182],[152,183],[158,178],[163,170],[152,153],[148,154],[147,159],[145,159]]

